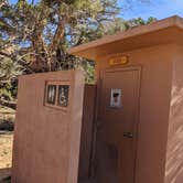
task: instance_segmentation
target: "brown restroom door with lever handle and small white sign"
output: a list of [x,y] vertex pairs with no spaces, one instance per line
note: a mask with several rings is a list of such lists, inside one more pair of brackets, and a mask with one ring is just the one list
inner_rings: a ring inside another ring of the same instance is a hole
[[133,183],[140,68],[101,75],[97,126],[97,183]]

